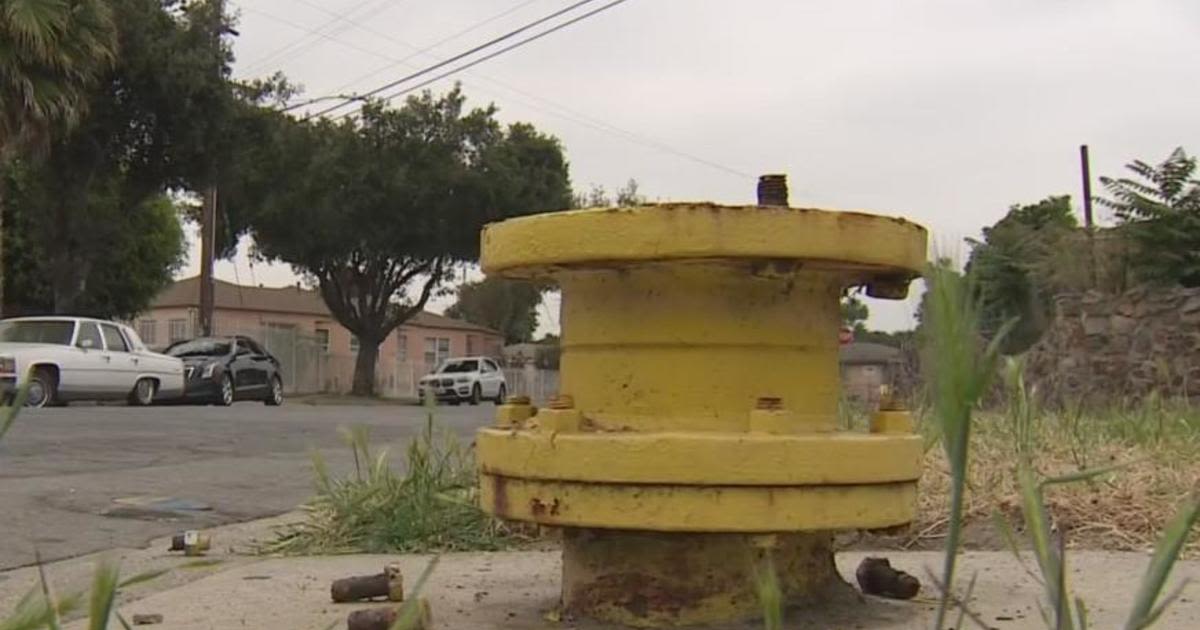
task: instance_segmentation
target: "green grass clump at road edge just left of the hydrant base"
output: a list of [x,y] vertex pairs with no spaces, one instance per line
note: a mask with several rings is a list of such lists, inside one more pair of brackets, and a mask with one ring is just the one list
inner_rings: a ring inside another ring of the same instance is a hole
[[373,452],[362,427],[343,430],[354,473],[334,476],[313,455],[317,496],[302,522],[264,547],[276,553],[394,553],[498,550],[508,529],[476,506],[470,452],[452,434],[433,428],[409,442],[406,470],[392,470],[388,451]]

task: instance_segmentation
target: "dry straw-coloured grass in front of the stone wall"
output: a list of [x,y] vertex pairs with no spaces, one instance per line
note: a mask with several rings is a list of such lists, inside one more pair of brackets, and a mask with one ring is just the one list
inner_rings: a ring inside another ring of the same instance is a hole
[[[1015,437],[1002,413],[976,416],[965,544],[1002,547],[996,514],[1021,523]],[[1147,551],[1189,492],[1200,488],[1200,410],[1153,401],[1129,410],[1043,414],[1034,427],[1034,464],[1044,476],[1118,466],[1099,478],[1046,488],[1046,508],[1068,547]],[[920,480],[918,521],[907,541],[940,545],[946,535],[950,469],[942,449],[930,449]],[[1200,557],[1189,540],[1184,557]]]

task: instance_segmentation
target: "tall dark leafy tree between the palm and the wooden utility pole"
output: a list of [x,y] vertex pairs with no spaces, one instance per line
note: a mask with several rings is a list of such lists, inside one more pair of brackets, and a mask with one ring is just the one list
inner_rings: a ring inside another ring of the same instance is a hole
[[[121,54],[85,91],[88,110],[73,131],[24,175],[20,212],[41,241],[55,312],[77,312],[94,298],[89,282],[113,244],[127,240],[128,221],[161,217],[146,208],[167,191],[211,181],[215,151],[230,142],[215,130],[233,102],[221,6],[112,0]],[[170,230],[146,236],[169,241]]]

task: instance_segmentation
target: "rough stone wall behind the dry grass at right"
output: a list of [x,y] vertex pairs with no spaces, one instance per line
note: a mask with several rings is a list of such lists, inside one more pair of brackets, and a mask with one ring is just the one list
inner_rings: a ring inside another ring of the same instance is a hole
[[1050,400],[1085,403],[1200,394],[1200,288],[1060,295],[1028,379]]

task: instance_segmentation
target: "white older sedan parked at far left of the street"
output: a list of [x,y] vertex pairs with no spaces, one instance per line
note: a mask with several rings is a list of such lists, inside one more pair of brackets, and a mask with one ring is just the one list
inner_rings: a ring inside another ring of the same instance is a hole
[[145,406],[184,391],[182,361],[150,352],[126,325],[85,317],[0,320],[5,398],[30,370],[30,407],[121,398]]

